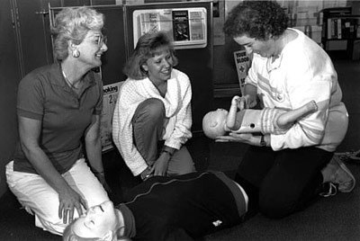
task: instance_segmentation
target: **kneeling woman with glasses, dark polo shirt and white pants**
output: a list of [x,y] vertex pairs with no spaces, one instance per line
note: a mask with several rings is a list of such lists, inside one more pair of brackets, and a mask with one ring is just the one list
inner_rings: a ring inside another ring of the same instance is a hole
[[58,62],[33,70],[18,89],[20,140],[6,165],[7,183],[35,225],[57,235],[88,206],[109,200],[100,142],[103,83],[92,70],[107,50],[102,29],[102,13],[63,9],[52,29]]

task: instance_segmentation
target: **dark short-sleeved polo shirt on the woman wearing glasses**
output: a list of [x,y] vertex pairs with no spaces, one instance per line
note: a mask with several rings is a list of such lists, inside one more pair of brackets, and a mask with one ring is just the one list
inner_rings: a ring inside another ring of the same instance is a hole
[[[33,70],[19,84],[17,114],[42,123],[40,147],[60,174],[67,172],[83,156],[82,141],[92,115],[101,113],[103,83],[93,71],[76,94],[67,85],[59,64]],[[36,174],[18,142],[14,171]]]

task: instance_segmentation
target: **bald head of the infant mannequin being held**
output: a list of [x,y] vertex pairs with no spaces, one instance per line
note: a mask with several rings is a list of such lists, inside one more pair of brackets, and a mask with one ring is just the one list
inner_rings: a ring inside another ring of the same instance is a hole
[[202,130],[206,137],[217,138],[226,134],[226,120],[228,111],[218,109],[213,112],[208,112],[202,118]]

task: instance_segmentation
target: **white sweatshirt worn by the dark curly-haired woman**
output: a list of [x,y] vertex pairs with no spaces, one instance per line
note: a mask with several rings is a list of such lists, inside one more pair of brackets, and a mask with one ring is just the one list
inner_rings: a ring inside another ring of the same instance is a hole
[[302,31],[289,42],[279,58],[254,54],[246,83],[257,86],[257,94],[268,108],[293,110],[314,100],[318,112],[297,121],[284,134],[271,135],[274,150],[317,146],[335,151],[347,133],[347,109],[337,72],[328,56]]

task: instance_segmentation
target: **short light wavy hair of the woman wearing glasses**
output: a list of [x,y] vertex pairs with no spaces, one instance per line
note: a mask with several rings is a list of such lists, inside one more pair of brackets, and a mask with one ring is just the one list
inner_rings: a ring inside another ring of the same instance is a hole
[[51,34],[54,36],[54,53],[58,61],[67,58],[68,40],[80,44],[88,31],[103,29],[103,13],[87,6],[67,7],[55,17]]

